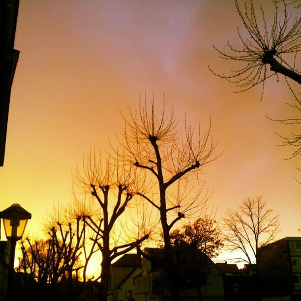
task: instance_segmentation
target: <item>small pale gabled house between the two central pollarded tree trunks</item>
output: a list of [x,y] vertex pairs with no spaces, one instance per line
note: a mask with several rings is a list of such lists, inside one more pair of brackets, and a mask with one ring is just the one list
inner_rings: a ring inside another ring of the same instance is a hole
[[137,300],[135,279],[141,274],[141,256],[124,254],[110,268],[108,301]]

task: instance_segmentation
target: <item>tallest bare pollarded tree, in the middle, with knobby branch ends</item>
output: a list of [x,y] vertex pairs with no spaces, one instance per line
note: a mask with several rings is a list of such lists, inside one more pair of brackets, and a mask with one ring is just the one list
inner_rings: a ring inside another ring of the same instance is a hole
[[[164,241],[162,268],[168,275],[171,298],[177,301],[179,271],[172,256],[170,231],[177,221],[200,210],[206,203],[208,191],[199,197],[204,182],[198,182],[201,189],[196,197],[191,196],[188,182],[191,176],[198,179],[204,168],[216,159],[212,154],[215,144],[210,127],[202,136],[200,128],[194,133],[185,121],[181,135],[176,130],[178,122],[173,111],[167,114],[163,104],[162,111],[157,113],[153,101],[147,106],[146,97],[144,105],[140,102],[139,111],[130,111],[130,118],[124,117],[124,120],[125,129],[119,141],[125,151],[124,157],[146,177],[139,182],[138,195],[159,212]],[[140,248],[138,252],[143,253]]]

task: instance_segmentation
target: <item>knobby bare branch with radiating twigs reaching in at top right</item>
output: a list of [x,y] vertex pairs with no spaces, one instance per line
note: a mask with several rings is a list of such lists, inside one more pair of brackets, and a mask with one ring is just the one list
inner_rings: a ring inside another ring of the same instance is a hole
[[[244,37],[238,29],[238,36],[241,41],[241,49],[235,48],[228,41],[229,53],[225,53],[214,47],[225,60],[242,61],[245,65],[233,71],[230,75],[221,75],[212,71],[215,75],[235,83],[240,91],[263,84],[273,75],[282,74],[301,84],[300,72],[296,69],[297,53],[301,50],[301,18],[300,15],[292,20],[292,13],[288,11],[288,5],[296,4],[296,1],[273,0],[274,17],[269,26],[265,11],[262,6],[261,22],[258,21],[252,0],[249,4],[244,2],[241,9],[239,1],[235,5],[243,27],[248,37]],[[281,5],[281,9],[279,8]],[[297,9],[297,8],[296,8]],[[283,14],[281,14],[281,10]],[[284,58],[285,55],[293,54],[292,62]],[[271,74],[267,65],[270,66]]]

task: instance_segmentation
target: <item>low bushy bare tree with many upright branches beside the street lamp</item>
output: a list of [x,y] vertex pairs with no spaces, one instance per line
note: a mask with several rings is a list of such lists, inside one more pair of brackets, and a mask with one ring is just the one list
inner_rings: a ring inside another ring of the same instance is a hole
[[[31,300],[33,294],[41,300],[74,300],[83,290],[89,263],[89,258],[84,262],[80,258],[82,252],[87,254],[85,218],[52,220],[45,239],[21,241],[22,257],[17,270],[25,272],[29,280],[23,288],[23,298]],[[80,270],[84,270],[83,277],[79,277]],[[79,280],[83,280],[81,284]]]

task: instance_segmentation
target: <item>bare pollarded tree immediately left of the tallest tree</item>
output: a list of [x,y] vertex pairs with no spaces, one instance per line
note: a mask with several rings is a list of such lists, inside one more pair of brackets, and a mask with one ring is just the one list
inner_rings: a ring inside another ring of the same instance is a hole
[[[109,286],[109,270],[114,259],[136,248],[142,241],[149,237],[144,232],[143,226],[137,229],[136,238],[129,240],[128,236],[122,238],[124,230],[125,210],[129,211],[130,205],[137,195],[133,186],[135,184],[134,171],[125,166],[120,159],[108,155],[103,161],[101,155],[97,158],[90,153],[87,161],[83,162],[83,168],[77,168],[75,184],[84,189],[86,195],[98,204],[100,218],[87,216],[85,223],[96,237],[91,238],[96,243],[101,254],[100,291],[98,300],[107,300]],[[122,220],[123,218],[123,220]],[[123,226],[118,221],[123,221]],[[118,233],[118,237],[113,237]],[[128,233],[127,233],[128,234]]]

